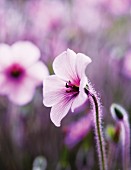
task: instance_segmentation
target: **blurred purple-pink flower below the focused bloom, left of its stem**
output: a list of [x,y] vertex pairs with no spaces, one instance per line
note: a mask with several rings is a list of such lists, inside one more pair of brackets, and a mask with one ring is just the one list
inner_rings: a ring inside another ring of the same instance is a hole
[[70,124],[66,127],[65,144],[72,148],[78,144],[90,131],[93,125],[92,113],[82,117],[77,122]]

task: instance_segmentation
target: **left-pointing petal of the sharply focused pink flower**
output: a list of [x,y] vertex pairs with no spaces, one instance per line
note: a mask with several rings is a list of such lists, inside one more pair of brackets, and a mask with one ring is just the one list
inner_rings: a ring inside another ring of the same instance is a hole
[[51,107],[63,100],[65,96],[65,84],[56,75],[46,77],[43,82],[43,104]]

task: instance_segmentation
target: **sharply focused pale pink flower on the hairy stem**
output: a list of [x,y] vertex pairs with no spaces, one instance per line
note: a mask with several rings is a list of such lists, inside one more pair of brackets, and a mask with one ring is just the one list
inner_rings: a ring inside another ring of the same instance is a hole
[[50,118],[56,126],[60,126],[70,108],[73,112],[87,100],[84,92],[84,87],[88,84],[85,69],[90,62],[88,56],[76,54],[70,49],[55,58],[53,70],[56,75],[44,80],[43,103],[52,107]]

